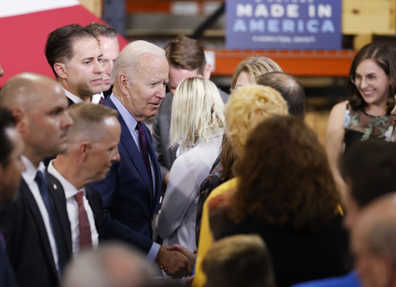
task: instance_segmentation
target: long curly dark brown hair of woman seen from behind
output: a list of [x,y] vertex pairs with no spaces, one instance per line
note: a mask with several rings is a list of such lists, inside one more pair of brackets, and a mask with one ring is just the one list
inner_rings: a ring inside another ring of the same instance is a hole
[[319,231],[339,216],[340,202],[326,153],[314,132],[295,116],[275,115],[250,134],[238,165],[229,215],[261,224]]

